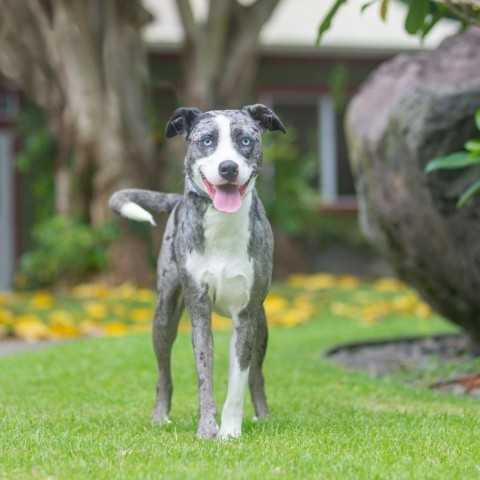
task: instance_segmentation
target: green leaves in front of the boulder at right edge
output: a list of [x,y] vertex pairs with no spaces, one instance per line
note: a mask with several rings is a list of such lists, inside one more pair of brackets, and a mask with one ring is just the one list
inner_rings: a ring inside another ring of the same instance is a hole
[[[480,130],[480,108],[475,112],[475,124],[477,129]],[[463,152],[454,152],[430,160],[425,167],[426,173],[440,169],[457,169],[480,165],[480,139],[467,140],[464,146],[465,151]],[[477,180],[465,190],[458,199],[457,206],[462,207],[478,193],[480,193],[480,180]]]

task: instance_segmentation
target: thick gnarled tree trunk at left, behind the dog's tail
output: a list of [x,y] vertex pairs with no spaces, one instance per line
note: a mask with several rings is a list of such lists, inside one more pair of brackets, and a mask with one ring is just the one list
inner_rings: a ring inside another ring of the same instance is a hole
[[[74,159],[69,180],[58,162],[58,205],[72,215],[78,212],[69,206],[86,203],[88,220],[101,225],[110,218],[115,190],[156,186],[143,115],[147,63],[140,28],[147,13],[139,0],[0,0],[0,10],[0,69],[45,109],[61,151]],[[80,179],[92,182],[91,198]],[[84,202],[75,201],[75,192]],[[113,247],[116,279],[145,281],[151,271],[145,242],[122,230]]]

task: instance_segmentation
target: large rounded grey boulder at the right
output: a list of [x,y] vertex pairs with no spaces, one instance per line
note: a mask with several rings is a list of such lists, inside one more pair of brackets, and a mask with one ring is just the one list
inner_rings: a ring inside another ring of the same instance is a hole
[[480,200],[456,201],[477,169],[425,174],[479,136],[480,30],[381,65],[349,105],[360,224],[399,277],[480,343]]

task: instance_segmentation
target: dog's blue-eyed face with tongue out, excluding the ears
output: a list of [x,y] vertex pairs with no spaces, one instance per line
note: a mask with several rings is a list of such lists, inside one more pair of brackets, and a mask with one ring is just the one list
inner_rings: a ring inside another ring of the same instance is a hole
[[194,126],[188,141],[187,174],[217,210],[238,211],[262,163],[258,126],[246,114],[210,112]]

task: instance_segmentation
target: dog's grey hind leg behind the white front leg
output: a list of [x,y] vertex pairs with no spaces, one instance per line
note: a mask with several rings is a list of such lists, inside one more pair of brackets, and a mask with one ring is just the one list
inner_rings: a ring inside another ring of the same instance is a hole
[[265,382],[263,379],[262,365],[265,359],[268,342],[268,327],[265,316],[265,309],[260,308],[257,315],[257,334],[255,337],[255,345],[252,352],[252,362],[250,366],[250,374],[248,383],[250,386],[250,395],[255,408],[257,418],[265,418],[270,415],[267,406],[267,398],[265,396]]

